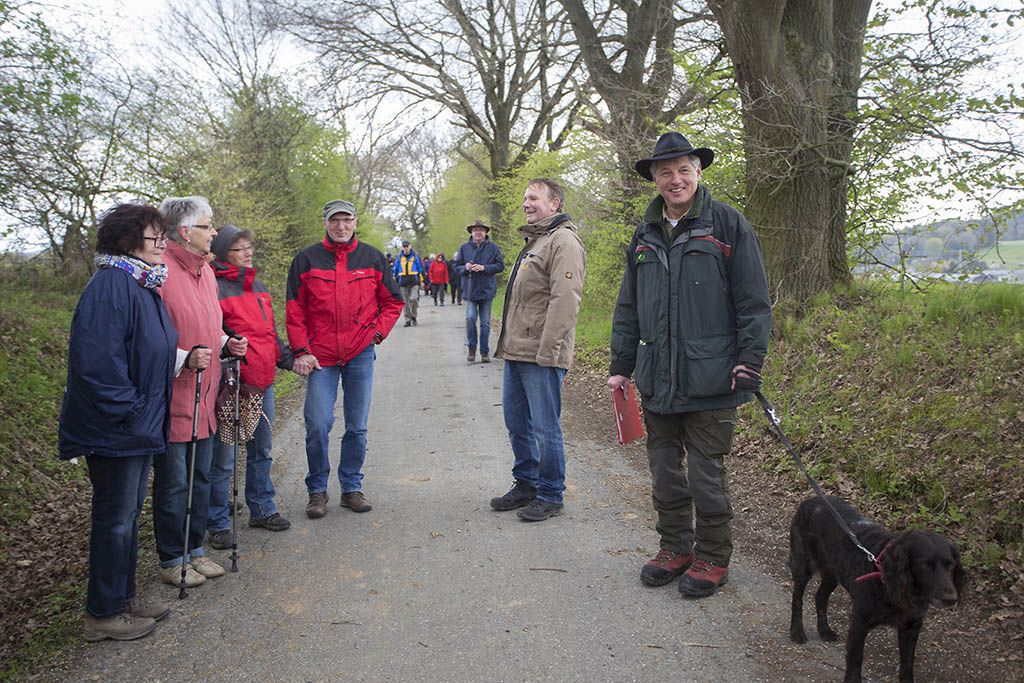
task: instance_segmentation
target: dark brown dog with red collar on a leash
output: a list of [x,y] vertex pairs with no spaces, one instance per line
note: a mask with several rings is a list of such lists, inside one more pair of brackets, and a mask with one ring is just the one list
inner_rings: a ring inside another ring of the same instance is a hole
[[[859,683],[867,633],[884,624],[896,627],[900,683],[913,681],[918,636],[929,607],[959,602],[966,575],[959,552],[931,531],[893,533],[864,518],[842,500],[828,497],[860,544],[879,558],[876,567],[840,527],[820,498],[801,503],[790,526],[790,570],[793,611],[790,637],[806,643],[803,603],[807,583],[815,573],[821,585],[814,595],[818,635],[836,640],[828,628],[828,598],[839,584],[850,594],[853,613],[846,638],[845,683]],[[858,581],[860,579],[860,581]]]

